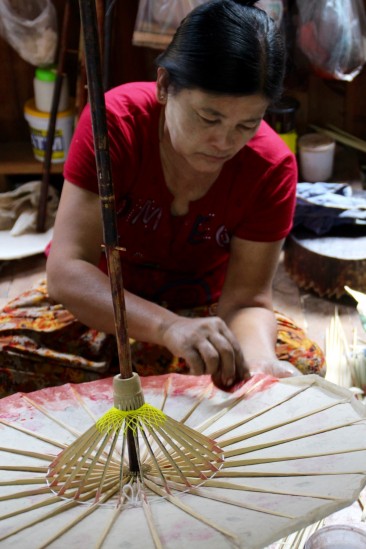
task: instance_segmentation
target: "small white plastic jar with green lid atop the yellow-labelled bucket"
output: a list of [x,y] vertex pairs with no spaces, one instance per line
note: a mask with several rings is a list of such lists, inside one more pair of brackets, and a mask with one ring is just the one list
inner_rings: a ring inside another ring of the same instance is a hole
[[[35,107],[41,112],[51,112],[53,92],[55,89],[57,72],[54,65],[37,67],[34,75],[34,101]],[[69,90],[67,76],[62,79],[60,101],[58,112],[66,111],[69,108]]]

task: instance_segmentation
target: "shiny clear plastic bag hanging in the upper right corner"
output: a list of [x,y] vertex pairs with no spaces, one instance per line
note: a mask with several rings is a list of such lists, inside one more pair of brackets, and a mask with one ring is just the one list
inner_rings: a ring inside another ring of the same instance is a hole
[[323,77],[351,81],[366,61],[363,0],[297,0],[297,43]]

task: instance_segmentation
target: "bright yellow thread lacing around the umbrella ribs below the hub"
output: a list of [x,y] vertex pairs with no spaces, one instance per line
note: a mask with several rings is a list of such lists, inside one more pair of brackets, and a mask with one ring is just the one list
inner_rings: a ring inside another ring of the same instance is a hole
[[136,432],[139,424],[147,427],[160,427],[166,421],[166,415],[151,404],[143,404],[137,410],[119,410],[111,408],[96,423],[96,428],[102,434],[108,434],[122,428],[126,433],[128,429]]

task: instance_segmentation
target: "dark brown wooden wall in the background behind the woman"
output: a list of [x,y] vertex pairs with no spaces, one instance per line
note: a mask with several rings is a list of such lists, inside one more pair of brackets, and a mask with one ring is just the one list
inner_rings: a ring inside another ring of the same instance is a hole
[[[102,0],[98,0],[101,2]],[[366,5],[366,0],[364,0]],[[53,0],[62,23],[64,0]],[[77,13],[72,18],[69,78],[73,87],[78,73],[77,54],[79,20]],[[288,2],[289,10],[295,6]],[[117,0],[114,11],[112,49],[110,56],[110,86],[133,80],[154,79],[153,60],[158,50],[133,46],[132,34],[138,8],[138,0]],[[72,44],[72,42],[74,42]],[[290,44],[291,45],[291,44]],[[293,44],[292,44],[293,46]],[[291,53],[291,52],[290,52]],[[298,52],[296,53],[298,56]],[[366,139],[366,69],[353,82],[345,83],[324,80],[303,62],[289,66],[287,91],[295,95],[301,104],[298,112],[298,130],[303,133],[309,123],[324,125],[332,123]],[[303,60],[302,60],[303,61]],[[28,127],[23,116],[25,101],[33,95],[34,67],[0,38],[0,143],[28,139]]]

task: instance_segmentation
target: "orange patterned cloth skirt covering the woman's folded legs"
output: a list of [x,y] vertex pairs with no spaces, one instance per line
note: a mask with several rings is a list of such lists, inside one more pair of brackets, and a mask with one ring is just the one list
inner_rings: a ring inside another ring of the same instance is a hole
[[[177,311],[183,316],[215,314],[215,307]],[[276,352],[301,372],[322,373],[324,355],[304,331],[276,313]],[[188,373],[184,360],[164,347],[131,341],[133,369],[140,375]],[[118,373],[114,336],[81,324],[47,294],[45,282],[0,311],[0,396],[80,383]]]

